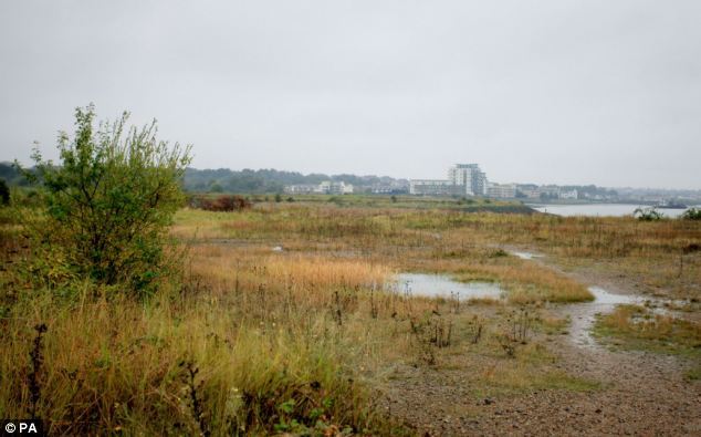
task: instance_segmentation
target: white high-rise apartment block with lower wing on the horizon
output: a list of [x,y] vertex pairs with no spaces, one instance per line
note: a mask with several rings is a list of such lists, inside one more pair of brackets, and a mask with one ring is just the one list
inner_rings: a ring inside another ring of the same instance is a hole
[[485,196],[486,175],[477,164],[456,164],[448,169],[448,179],[412,179],[409,194]]

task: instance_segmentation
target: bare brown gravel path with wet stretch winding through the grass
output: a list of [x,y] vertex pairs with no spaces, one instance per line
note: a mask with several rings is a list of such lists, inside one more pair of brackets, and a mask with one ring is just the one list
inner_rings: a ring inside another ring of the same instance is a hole
[[[543,258],[534,259],[562,272]],[[632,295],[587,272],[564,273]],[[613,306],[611,306],[613,308]],[[598,308],[600,309],[600,308]],[[606,309],[604,309],[606,311]],[[593,392],[533,391],[475,402],[465,368],[404,366],[388,387],[387,407],[421,435],[676,435],[701,436],[701,383],[683,378],[684,362],[647,352],[614,352],[592,339],[596,304],[562,305],[572,334],[548,348],[567,373],[601,383]]]

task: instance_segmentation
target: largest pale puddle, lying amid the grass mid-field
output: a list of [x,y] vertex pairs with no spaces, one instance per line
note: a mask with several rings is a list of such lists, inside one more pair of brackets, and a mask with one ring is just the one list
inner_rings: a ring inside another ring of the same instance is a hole
[[399,273],[388,289],[406,295],[460,299],[501,299],[504,290],[493,282],[458,282],[443,274]]

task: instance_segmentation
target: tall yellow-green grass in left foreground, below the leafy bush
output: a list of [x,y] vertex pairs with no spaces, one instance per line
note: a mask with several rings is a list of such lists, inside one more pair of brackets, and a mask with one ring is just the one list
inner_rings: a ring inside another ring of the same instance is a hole
[[[50,295],[18,303],[2,321],[1,344],[11,353],[0,358],[0,415],[29,414],[31,326],[43,323],[49,332],[36,416],[51,434],[386,426],[367,388],[354,382],[363,353],[326,314],[255,323],[240,318],[243,311],[207,294],[182,301],[160,295],[147,305],[123,299],[66,306]],[[197,368],[193,381],[186,364]]]

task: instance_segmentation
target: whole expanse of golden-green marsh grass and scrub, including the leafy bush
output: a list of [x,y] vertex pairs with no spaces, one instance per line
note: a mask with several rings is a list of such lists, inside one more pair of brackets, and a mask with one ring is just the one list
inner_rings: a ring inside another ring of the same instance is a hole
[[[380,196],[177,208],[177,190],[121,190],[133,175],[115,171],[136,155],[101,173],[98,145],[112,143],[86,128],[64,149],[92,163],[86,179],[46,166],[38,199],[15,191],[0,209],[0,416],[41,418],[55,435],[410,435],[431,417],[397,399],[429,403],[446,381],[462,399],[450,414],[465,419],[534,391],[600,393],[562,365],[562,309],[594,299],[582,272],[683,299],[663,315],[619,306],[596,332],[681,354],[698,374],[698,221],[469,214],[460,200]],[[148,131],[133,135],[165,153]],[[186,155],[134,171],[164,187]],[[123,208],[132,219],[117,220]],[[387,290],[400,272],[493,283],[503,299]]]

